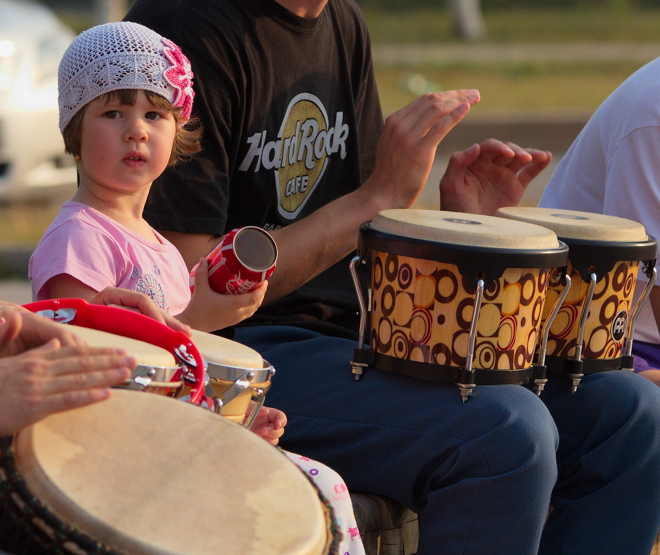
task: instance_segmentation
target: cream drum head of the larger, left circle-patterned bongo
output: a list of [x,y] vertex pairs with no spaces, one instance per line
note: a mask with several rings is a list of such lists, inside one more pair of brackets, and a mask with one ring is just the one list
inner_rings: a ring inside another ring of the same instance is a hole
[[438,210],[384,210],[371,229],[407,238],[497,249],[557,249],[550,229],[493,216]]

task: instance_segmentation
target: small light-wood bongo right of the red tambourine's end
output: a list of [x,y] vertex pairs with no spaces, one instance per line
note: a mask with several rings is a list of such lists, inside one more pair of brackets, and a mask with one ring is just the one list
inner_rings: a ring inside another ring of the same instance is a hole
[[[193,330],[191,337],[206,362],[215,412],[249,428],[270,389],[275,369],[257,351],[220,335]],[[249,409],[250,400],[256,405]]]

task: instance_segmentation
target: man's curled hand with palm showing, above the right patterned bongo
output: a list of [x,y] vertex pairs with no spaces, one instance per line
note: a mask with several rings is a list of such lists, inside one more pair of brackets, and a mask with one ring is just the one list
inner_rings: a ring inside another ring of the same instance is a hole
[[440,209],[493,215],[503,206],[516,206],[551,161],[551,152],[497,139],[454,152],[440,179]]

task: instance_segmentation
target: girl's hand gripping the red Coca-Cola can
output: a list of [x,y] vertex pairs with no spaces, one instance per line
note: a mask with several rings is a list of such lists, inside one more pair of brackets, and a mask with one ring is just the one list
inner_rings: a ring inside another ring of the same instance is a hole
[[247,293],[224,294],[208,283],[208,261],[202,258],[195,271],[195,290],[184,312],[177,318],[199,331],[215,331],[249,318],[261,305],[268,281]]

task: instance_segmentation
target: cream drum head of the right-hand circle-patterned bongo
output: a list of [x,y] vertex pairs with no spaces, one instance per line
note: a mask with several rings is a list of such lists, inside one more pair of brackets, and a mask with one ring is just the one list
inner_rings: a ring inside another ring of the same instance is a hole
[[501,218],[548,227],[564,239],[609,240],[613,243],[648,239],[642,224],[612,215],[535,206],[508,206],[496,214]]

